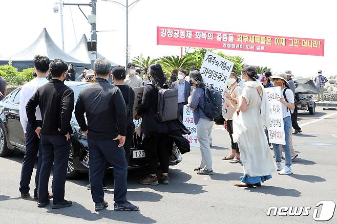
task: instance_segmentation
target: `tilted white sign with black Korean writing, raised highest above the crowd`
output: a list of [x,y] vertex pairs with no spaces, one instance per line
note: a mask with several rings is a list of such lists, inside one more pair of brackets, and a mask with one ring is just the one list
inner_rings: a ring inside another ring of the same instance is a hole
[[207,51],[200,74],[207,87],[213,87],[222,94],[226,89],[226,83],[233,66],[233,62]]

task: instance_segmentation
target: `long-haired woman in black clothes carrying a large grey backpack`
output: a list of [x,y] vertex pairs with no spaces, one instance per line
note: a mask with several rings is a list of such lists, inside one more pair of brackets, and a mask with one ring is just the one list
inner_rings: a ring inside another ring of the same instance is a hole
[[[142,117],[142,148],[148,163],[149,175],[140,180],[140,184],[168,184],[168,160],[173,142],[181,153],[188,152],[189,142],[182,135],[189,132],[178,120],[159,122],[156,119],[158,91],[168,88],[165,74],[160,64],[152,64],[148,70],[149,83],[144,86],[142,102],[138,107],[136,119]],[[157,175],[158,160],[161,175]]]

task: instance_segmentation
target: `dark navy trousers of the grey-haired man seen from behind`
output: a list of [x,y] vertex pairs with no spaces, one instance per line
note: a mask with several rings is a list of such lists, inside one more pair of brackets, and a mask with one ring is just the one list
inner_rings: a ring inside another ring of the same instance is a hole
[[104,174],[104,161],[107,160],[114,167],[114,201],[125,203],[127,201],[127,176],[128,163],[125,159],[123,147],[118,148],[119,141],[88,139],[89,153],[89,178],[91,196],[95,203],[104,200],[102,186]]

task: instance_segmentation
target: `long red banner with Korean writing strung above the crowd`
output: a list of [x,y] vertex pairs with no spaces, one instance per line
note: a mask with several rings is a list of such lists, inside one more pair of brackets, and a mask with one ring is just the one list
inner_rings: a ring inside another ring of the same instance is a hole
[[157,27],[157,45],[324,56],[324,39]]

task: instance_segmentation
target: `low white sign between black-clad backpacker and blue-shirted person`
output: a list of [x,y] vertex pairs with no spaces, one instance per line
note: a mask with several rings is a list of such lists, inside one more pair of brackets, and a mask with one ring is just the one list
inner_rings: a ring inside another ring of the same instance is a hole
[[184,135],[183,137],[189,141],[189,145],[193,147],[199,147],[199,141],[197,136],[197,126],[194,124],[192,110],[184,105],[184,114],[182,123],[187,130],[191,131],[191,135]]

